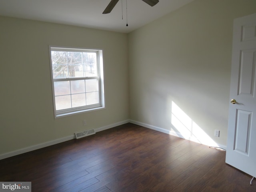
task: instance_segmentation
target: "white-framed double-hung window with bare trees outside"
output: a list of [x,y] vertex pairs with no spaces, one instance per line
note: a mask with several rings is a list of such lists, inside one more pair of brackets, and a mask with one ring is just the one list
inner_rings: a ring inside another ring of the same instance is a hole
[[50,46],[55,117],[104,107],[102,50]]

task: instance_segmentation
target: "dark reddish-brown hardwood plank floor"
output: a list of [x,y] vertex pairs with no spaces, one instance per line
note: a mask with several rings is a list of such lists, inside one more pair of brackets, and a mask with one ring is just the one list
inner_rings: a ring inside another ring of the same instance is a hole
[[225,152],[134,124],[0,160],[32,192],[252,192]]

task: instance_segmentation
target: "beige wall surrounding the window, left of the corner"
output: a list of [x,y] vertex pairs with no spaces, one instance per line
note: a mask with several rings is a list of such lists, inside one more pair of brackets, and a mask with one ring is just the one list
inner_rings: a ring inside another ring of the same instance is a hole
[[[128,120],[127,43],[127,34],[0,17],[0,154]],[[49,45],[103,49],[106,109],[54,119]]]

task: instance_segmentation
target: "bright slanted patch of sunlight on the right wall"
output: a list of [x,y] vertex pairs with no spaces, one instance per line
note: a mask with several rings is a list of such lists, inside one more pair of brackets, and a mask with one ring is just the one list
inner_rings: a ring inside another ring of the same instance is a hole
[[183,138],[208,146],[217,146],[216,142],[173,101],[171,123]]

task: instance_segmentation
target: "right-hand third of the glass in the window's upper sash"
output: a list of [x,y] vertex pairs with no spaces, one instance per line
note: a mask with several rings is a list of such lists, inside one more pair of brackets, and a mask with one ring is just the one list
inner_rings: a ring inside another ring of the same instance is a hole
[[83,64],[86,77],[98,76],[97,54],[83,52]]

